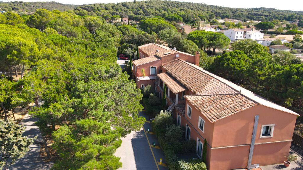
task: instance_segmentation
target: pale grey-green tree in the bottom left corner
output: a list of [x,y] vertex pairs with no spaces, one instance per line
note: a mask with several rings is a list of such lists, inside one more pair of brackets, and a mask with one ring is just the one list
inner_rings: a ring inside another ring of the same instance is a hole
[[22,137],[25,127],[16,124],[13,120],[0,120],[0,169],[8,170],[8,166],[23,158],[29,150],[29,145],[36,138]]

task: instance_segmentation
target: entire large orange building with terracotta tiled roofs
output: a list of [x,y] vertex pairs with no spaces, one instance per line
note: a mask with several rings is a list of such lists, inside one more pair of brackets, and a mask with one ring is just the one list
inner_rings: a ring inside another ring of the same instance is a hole
[[139,52],[141,59],[134,66],[137,71],[142,65],[156,66],[151,81],[156,93],[162,98],[166,89],[166,108],[172,110],[176,125],[185,127],[185,138],[196,141],[199,158],[207,145],[209,170],[255,168],[286,160],[297,113],[202,69],[196,63],[199,54],[153,43],[140,46]]

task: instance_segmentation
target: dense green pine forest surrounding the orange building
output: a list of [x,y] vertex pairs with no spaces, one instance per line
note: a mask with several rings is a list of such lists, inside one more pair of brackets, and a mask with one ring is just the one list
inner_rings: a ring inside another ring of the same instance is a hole
[[[81,6],[1,2],[0,8],[6,11],[0,14],[0,116],[6,120],[8,111],[35,103],[29,113],[39,118],[42,135],[54,141],[54,169],[121,167],[113,155],[120,138],[140,129],[145,119],[137,114],[142,93],[130,80],[132,63],[122,71],[117,54],[136,58],[138,46],[151,42],[200,51],[200,67],[303,116],[303,64],[293,54],[271,55],[252,40],[236,41],[234,51],[223,54],[216,49],[229,48],[224,34],[185,34],[176,22],[227,17],[300,24],[303,12],[159,0]],[[121,17],[140,22],[128,25]],[[300,36],[285,45],[303,48]]]

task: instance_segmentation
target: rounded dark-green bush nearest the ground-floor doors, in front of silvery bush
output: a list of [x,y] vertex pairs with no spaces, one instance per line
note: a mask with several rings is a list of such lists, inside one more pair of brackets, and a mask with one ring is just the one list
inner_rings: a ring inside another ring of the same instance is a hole
[[168,143],[177,143],[182,139],[182,129],[180,126],[171,124],[166,127],[165,140]]

